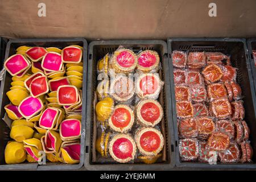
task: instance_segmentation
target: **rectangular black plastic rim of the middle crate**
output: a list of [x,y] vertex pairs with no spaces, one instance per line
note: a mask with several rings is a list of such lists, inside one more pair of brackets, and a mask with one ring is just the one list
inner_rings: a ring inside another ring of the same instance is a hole
[[[164,55],[163,55],[163,61],[166,63],[167,67],[169,67],[168,65],[168,57],[167,57],[167,43],[164,40],[95,40],[89,43],[89,48],[88,48],[88,68],[92,67],[92,59],[93,56],[93,47],[97,46],[97,45],[125,45],[125,44],[161,44],[164,48]],[[88,79],[89,79],[89,74],[92,75],[92,69],[88,69]],[[168,77],[170,77],[168,69],[165,72],[166,74],[166,79],[164,80],[164,84],[166,85],[166,89],[167,89],[167,93],[171,93],[170,90],[170,81],[168,80]],[[91,86],[91,82],[88,80],[88,88]],[[89,88],[90,89],[90,88]],[[87,100],[90,100],[92,97],[92,93],[87,92],[88,95],[86,97]],[[86,100],[86,102],[87,102]],[[171,102],[167,102],[166,105],[168,105],[167,107],[169,107],[170,109],[171,107]],[[169,110],[170,110],[169,109]],[[89,107],[89,109],[86,110],[89,114],[90,117],[88,117],[88,114],[86,113],[86,137],[85,137],[85,147],[89,147],[90,146],[90,122],[91,122],[91,109]],[[87,170],[113,170],[113,167],[117,167],[115,168],[115,170],[118,171],[131,171],[131,170],[154,170],[154,168],[158,168],[161,170],[170,170],[173,169],[175,167],[175,143],[174,143],[174,131],[173,131],[173,125],[172,125],[172,115],[171,112],[167,112],[167,121],[168,121],[168,131],[169,131],[169,135],[171,137],[171,139],[169,139],[170,143],[168,144],[171,148],[171,145],[173,145],[174,147],[174,151],[170,151],[170,159],[171,162],[168,164],[90,164],[90,148],[88,148],[88,152],[85,152],[85,162],[84,162],[84,167]],[[170,115],[169,115],[170,114]],[[89,129],[88,129],[89,128]],[[169,147],[168,146],[168,147]],[[109,168],[108,168],[109,167]]]

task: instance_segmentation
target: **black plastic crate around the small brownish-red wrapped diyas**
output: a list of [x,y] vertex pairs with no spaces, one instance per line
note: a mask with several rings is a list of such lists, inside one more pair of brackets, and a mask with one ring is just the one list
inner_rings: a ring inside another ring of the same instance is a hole
[[175,84],[174,84],[174,67],[172,63],[172,52],[189,51],[189,52],[221,52],[230,55],[231,65],[237,68],[237,83],[242,89],[242,100],[245,108],[245,120],[250,128],[250,144],[256,151],[256,96],[251,75],[251,65],[247,55],[245,39],[207,39],[207,38],[170,38],[168,42],[168,56],[170,65],[170,82],[171,82],[171,99],[172,115],[175,135],[175,152],[176,166],[189,168],[256,168],[256,155],[253,156],[252,163],[219,163],[210,165],[200,162],[183,162],[179,154],[179,135],[177,129]]

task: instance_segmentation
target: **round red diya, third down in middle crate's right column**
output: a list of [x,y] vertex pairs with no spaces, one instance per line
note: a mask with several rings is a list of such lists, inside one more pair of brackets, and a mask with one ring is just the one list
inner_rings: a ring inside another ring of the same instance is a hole
[[163,118],[163,108],[158,101],[141,100],[137,105],[137,119],[143,126],[154,127]]

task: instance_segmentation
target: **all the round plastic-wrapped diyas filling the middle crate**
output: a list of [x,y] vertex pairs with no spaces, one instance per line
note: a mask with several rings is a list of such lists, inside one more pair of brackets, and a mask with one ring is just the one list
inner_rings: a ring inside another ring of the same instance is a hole
[[[102,161],[161,161],[165,138],[160,126],[163,108],[158,98],[163,81],[158,75],[159,68],[156,51],[134,53],[122,46],[97,62],[97,73],[104,74],[104,80],[98,82],[95,106],[96,151]],[[138,74],[135,81],[130,73]]]

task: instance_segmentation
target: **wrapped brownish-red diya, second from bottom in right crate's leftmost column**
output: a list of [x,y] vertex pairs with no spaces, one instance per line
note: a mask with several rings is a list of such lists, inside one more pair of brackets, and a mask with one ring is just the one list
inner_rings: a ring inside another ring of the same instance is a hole
[[187,118],[181,119],[178,123],[179,135],[181,138],[192,138],[197,137],[198,123],[196,119]]

